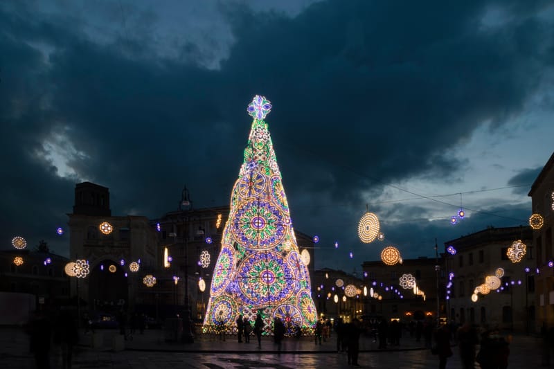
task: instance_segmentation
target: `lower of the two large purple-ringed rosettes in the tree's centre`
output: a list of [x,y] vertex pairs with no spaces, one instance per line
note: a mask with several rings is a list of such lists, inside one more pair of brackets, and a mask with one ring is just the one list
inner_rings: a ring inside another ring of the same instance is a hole
[[255,307],[276,306],[294,291],[294,274],[280,253],[265,251],[245,258],[238,269],[243,302]]

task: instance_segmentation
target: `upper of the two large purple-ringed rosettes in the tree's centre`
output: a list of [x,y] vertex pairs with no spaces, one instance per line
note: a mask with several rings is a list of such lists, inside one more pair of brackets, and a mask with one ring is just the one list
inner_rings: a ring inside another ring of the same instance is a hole
[[283,242],[289,230],[287,215],[273,201],[239,204],[231,215],[231,233],[247,249],[267,250]]

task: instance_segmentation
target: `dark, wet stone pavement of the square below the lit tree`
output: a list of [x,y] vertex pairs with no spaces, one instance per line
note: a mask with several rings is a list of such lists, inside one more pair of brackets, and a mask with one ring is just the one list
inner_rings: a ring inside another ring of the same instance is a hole
[[[262,350],[247,347],[236,342],[233,337],[226,341],[219,339],[204,340],[195,343],[204,351],[178,352],[180,348],[189,346],[182,344],[167,344],[160,340],[160,334],[145,334],[134,339],[134,349],[114,352],[112,348],[78,347],[73,358],[73,369],[83,368],[141,368],[141,369],[177,369],[177,368],[348,368],[346,354],[334,352],[334,342],[323,343],[321,347],[311,340],[285,341],[283,350],[278,353],[274,344],[265,339]],[[406,339],[409,341],[411,339]],[[83,341],[83,339],[81,339]],[[250,343],[255,345],[253,341]],[[409,346],[403,350],[403,347]],[[361,352],[359,363],[364,368],[437,368],[438,359],[429,350],[413,349],[419,343],[411,341],[400,346],[396,351]],[[158,347],[170,350],[154,350]],[[228,349],[229,351],[225,351]],[[241,350],[244,349],[244,350]],[[301,351],[300,351],[301,350]],[[447,368],[461,368],[457,348],[453,347],[454,356],[449,359]],[[60,350],[53,348],[51,368],[61,368]],[[515,336],[510,345],[508,368],[535,368],[542,364],[541,341],[533,336]],[[552,360],[554,364],[554,359]],[[33,357],[28,352],[28,338],[20,330],[0,330],[0,368],[27,369],[35,368]],[[352,368],[352,367],[350,367]],[[476,368],[479,368],[476,365]],[[554,365],[543,368],[554,368]]]

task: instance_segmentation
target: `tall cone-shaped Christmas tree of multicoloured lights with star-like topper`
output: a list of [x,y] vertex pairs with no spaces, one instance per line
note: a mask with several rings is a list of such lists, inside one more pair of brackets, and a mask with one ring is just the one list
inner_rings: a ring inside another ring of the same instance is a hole
[[[271,103],[256,96],[244,162],[231,192],[231,210],[213,271],[204,332],[236,332],[239,315],[253,323],[256,314],[271,332],[274,318],[287,333],[296,326],[312,333],[317,313],[310,275],[301,258],[265,116]],[[307,259],[307,260],[306,260]]]

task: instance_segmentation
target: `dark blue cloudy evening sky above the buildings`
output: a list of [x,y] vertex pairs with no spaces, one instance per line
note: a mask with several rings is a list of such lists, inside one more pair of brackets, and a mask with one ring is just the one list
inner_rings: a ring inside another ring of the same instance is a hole
[[[185,183],[228,204],[256,94],[317,268],[526,224],[554,147],[553,26],[551,1],[2,1],[1,247],[66,253],[85,180],[114,215],[175,210]],[[357,239],[366,204],[385,242]]]

